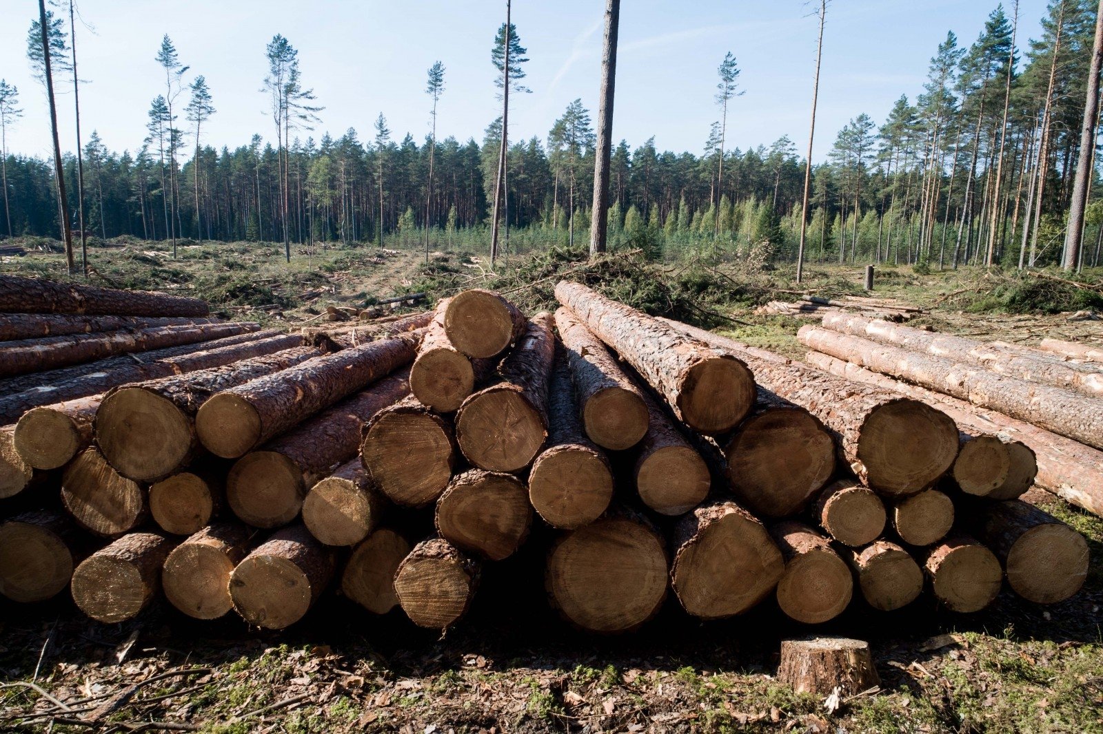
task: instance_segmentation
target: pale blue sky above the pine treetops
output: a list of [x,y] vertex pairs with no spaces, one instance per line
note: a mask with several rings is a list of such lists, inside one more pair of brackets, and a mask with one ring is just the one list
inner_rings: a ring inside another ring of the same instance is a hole
[[[967,45],[995,4],[834,0],[813,158],[822,160],[837,130],[859,112],[879,122],[901,94],[913,98],[946,31]],[[303,136],[339,136],[352,127],[366,141],[382,111],[396,138],[408,131],[420,140],[429,131],[426,69],[438,58],[448,69],[438,134],[481,140],[499,114],[490,46],[504,21],[500,0],[83,0],[77,7],[85,23],[78,20],[77,61],[88,79],[81,91],[84,136],[96,129],[114,150],[135,150],[146,134],[150,100],[163,91],[153,61],[163,33],[191,66],[185,78],[207,78],[218,111],[204,141],[216,147],[247,144],[255,132],[274,139],[259,89],[265,45],[276,33],[299,50],[303,79],[325,107],[318,129]],[[576,97],[596,108],[603,8],[602,0],[514,0],[533,94],[511,104],[511,138],[544,138]],[[719,119],[716,68],[731,51],[745,94],[731,104],[729,148],[768,145],[789,134],[803,155],[817,31],[812,11],[802,0],[624,0],[614,139],[635,148],[654,136],[662,150],[699,153]],[[1043,13],[1043,0],[1022,0],[1020,47],[1038,34]],[[20,88],[25,110],[9,130],[9,150],[49,155],[45,95],[25,58],[35,14],[33,0],[0,0],[0,78]],[[72,94],[61,95],[58,105],[62,144],[72,149]]]

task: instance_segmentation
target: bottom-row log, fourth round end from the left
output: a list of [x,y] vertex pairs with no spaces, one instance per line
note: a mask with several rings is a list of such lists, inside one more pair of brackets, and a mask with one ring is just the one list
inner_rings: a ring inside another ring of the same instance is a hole
[[301,619],[333,578],[332,551],[301,525],[277,530],[229,574],[234,609],[250,625],[283,629]]

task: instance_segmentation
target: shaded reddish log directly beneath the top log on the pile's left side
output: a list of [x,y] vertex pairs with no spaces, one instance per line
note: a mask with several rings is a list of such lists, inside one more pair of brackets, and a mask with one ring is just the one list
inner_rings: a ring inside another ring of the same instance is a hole
[[407,378],[385,377],[239,458],[226,477],[229,508],[257,528],[293,520],[307,489],[356,455],[364,423],[409,395]]

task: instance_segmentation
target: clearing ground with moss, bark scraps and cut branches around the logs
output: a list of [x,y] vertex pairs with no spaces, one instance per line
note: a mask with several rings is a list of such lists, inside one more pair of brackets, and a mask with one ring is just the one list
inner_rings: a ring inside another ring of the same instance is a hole
[[[189,245],[173,260],[163,242],[138,240],[90,255],[93,282],[188,292],[270,325],[321,325],[326,305],[421,290],[436,299],[479,285],[508,291],[526,310],[549,307],[564,276],[793,358],[803,355],[796,330],[811,321],[753,315],[758,304],[796,298],[792,269],[735,261],[646,263],[619,252],[588,263],[578,251],[555,250],[491,271],[474,253],[430,253],[427,266],[424,251],[360,247],[296,248],[288,266],[279,245]],[[0,259],[0,272],[63,278],[64,260],[31,249]],[[814,265],[806,276],[802,288],[821,295],[860,292],[857,266]],[[928,309],[912,323],[939,331],[1103,342],[1103,322],[1071,317],[1103,311],[1100,274],[1089,273],[1086,287],[1052,280],[1060,277],[886,267],[877,294]],[[1037,489],[1030,499],[1086,536],[1083,590],[1047,607],[1005,591],[974,615],[925,596],[891,615],[855,603],[816,632],[869,640],[881,687],[833,712],[773,679],[779,641],[810,629],[772,603],[699,623],[668,600],[634,635],[585,635],[548,609],[534,538],[488,569],[470,615],[443,637],[415,629],[400,612],[372,617],[335,596],[281,634],[247,629],[233,615],[199,623],[167,604],[113,626],[83,618],[67,598],[0,604],[0,731],[139,731],[161,722],[176,731],[410,734],[1103,732],[1103,520]]]

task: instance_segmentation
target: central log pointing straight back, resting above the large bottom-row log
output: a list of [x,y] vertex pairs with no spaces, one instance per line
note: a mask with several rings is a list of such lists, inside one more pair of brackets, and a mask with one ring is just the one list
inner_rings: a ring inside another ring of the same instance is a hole
[[567,352],[558,346],[548,395],[548,444],[528,473],[533,507],[548,525],[564,530],[598,519],[613,496],[609,460],[582,432],[570,373]]

